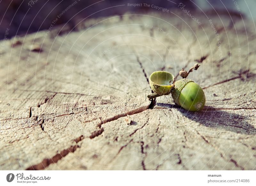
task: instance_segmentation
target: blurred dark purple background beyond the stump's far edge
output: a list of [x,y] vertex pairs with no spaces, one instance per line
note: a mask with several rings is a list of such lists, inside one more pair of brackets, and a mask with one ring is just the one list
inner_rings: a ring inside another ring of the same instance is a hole
[[178,8],[178,4],[183,3],[191,11],[208,11],[214,8],[242,13],[248,19],[256,18],[256,0],[0,0],[0,39],[4,38],[7,28],[7,38],[47,30],[60,14],[54,27],[63,23],[72,27],[84,18],[156,11],[151,7],[128,6],[128,3],[154,4],[167,9]]

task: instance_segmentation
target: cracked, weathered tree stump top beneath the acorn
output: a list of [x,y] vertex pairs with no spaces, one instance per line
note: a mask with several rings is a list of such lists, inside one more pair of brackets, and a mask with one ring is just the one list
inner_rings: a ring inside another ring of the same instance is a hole
[[[126,13],[1,41],[0,168],[255,170],[255,24],[194,16]],[[203,111],[146,98],[152,72],[179,79],[195,63]]]

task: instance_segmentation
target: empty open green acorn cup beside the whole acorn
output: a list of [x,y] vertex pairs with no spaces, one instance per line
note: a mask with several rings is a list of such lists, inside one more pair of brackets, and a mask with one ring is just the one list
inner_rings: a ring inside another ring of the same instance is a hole
[[151,89],[159,95],[170,94],[173,85],[171,82],[174,80],[174,76],[165,71],[153,72],[149,77],[149,85]]

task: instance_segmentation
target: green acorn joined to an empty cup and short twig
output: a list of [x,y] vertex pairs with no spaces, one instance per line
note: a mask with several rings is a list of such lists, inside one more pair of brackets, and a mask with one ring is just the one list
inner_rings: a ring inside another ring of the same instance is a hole
[[149,84],[155,93],[148,95],[148,98],[172,94],[174,103],[182,108],[193,112],[202,110],[205,104],[204,91],[193,80],[186,78],[193,69],[196,70],[198,67],[199,65],[195,64],[188,72],[182,69],[180,75],[183,75],[183,79],[178,81],[175,81],[174,76],[169,72],[153,72],[149,77]]

